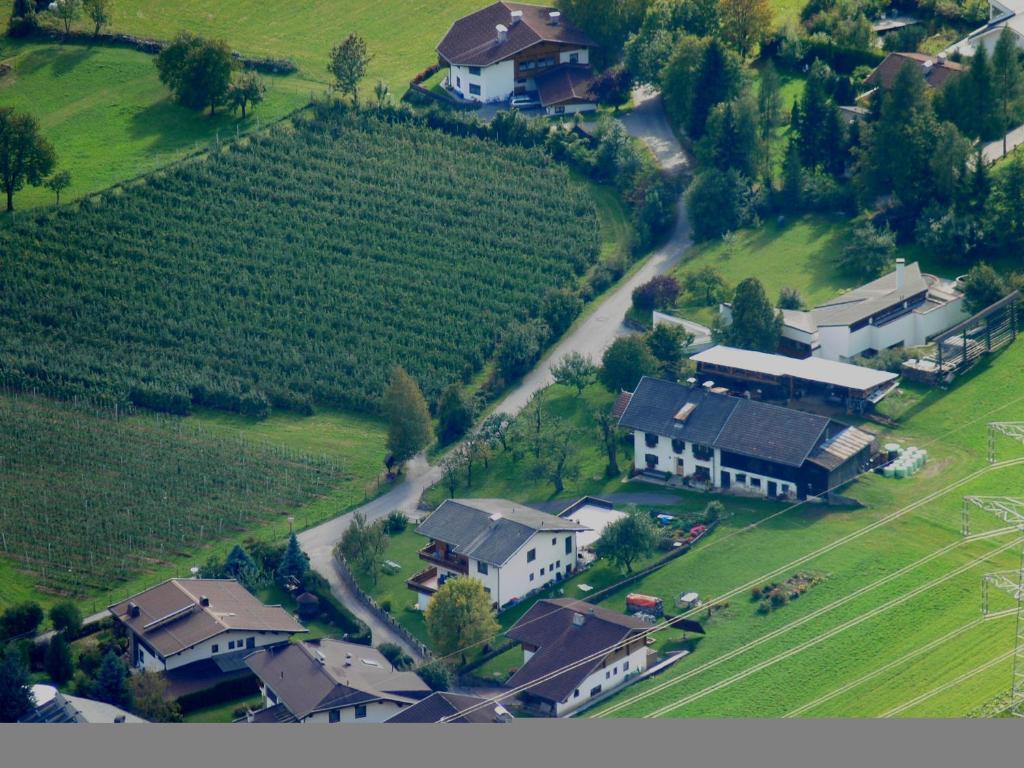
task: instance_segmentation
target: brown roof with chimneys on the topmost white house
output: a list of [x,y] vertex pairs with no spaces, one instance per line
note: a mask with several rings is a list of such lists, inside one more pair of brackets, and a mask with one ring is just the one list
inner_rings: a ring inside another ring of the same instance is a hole
[[[522,11],[522,20],[518,24],[512,24],[514,10]],[[595,45],[593,40],[566,22],[564,15],[557,25],[551,24],[548,13],[553,10],[555,8],[525,3],[494,3],[453,24],[437,44],[437,52],[451,63],[486,67],[542,42],[587,48]],[[498,42],[495,31],[500,24],[508,28],[508,38],[502,43]]]

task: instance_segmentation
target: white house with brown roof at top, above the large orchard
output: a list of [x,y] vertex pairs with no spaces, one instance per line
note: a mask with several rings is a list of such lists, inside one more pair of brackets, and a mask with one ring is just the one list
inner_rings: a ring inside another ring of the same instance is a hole
[[555,8],[497,2],[463,16],[437,44],[447,85],[470,101],[536,94],[550,114],[597,106],[587,35]]

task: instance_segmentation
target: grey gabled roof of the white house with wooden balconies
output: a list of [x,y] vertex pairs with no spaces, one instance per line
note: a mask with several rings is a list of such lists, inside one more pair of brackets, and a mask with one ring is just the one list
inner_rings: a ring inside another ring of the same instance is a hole
[[416,528],[455,552],[502,565],[540,530],[587,530],[571,520],[504,499],[449,499]]

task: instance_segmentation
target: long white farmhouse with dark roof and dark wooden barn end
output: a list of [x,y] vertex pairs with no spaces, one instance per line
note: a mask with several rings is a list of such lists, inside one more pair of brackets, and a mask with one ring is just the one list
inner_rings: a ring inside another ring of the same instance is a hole
[[633,430],[638,472],[775,499],[826,496],[877,447],[869,432],[824,416],[649,377],[618,426]]

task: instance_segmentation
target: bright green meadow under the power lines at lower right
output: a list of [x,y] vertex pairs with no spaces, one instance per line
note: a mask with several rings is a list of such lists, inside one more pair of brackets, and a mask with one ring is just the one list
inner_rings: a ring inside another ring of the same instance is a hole
[[[926,446],[931,461],[909,480],[870,475],[856,482],[846,493],[866,508],[822,512],[794,507],[753,528],[748,525],[756,517],[737,514],[724,519],[715,536],[693,553],[631,588],[666,599],[679,589],[693,589],[707,599],[769,577],[781,581],[796,571],[823,579],[798,601],[768,615],[757,613],[757,603],[744,587],[707,623],[707,637],[690,657],[667,674],[633,686],[594,714],[957,717],[1004,692],[1010,684],[1010,666],[996,663],[948,690],[900,709],[1013,647],[1012,618],[974,623],[980,617],[981,575],[1017,567],[1021,544],[1013,535],[963,542],[959,523],[964,495],[1013,494],[1024,487],[1024,467],[982,474],[863,531],[871,522],[987,466],[985,424],[1024,419],[1024,398],[1014,387],[1022,371],[1024,345],[1017,344],[948,392],[909,391],[901,409],[904,424],[882,438]],[[999,459],[1024,456],[1022,446],[1009,440],[999,441],[998,449]],[[973,531],[995,527],[984,514],[974,515]],[[786,563],[858,531],[860,536],[830,552],[776,574]],[[996,554],[1002,547],[1005,551]],[[943,548],[948,549],[939,552]],[[930,559],[923,560],[926,557]],[[945,580],[965,565],[963,573]],[[901,569],[905,570],[897,572]],[[882,579],[887,581],[879,584]],[[888,605],[918,588],[922,590],[915,596]],[[858,590],[862,591],[851,597]],[[621,608],[623,599],[615,595],[605,604]],[[1010,605],[1007,598],[993,608]],[[795,625],[818,609],[819,615]],[[881,609],[878,615],[866,616],[874,609]],[[850,622],[856,624],[847,626]],[[783,632],[762,642],[774,630]],[[827,637],[833,631],[835,636]],[[921,652],[927,643],[935,647]],[[732,651],[738,651],[735,657],[716,660]],[[892,667],[872,675],[884,665]]]

